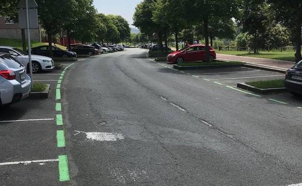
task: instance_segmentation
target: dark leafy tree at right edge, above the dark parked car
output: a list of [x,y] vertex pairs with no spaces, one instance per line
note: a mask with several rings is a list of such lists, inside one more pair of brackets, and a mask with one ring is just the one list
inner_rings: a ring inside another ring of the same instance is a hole
[[295,61],[299,62],[301,56],[302,34],[302,1],[301,0],[268,0],[270,8],[276,19],[283,25],[291,28],[293,42],[296,45]]

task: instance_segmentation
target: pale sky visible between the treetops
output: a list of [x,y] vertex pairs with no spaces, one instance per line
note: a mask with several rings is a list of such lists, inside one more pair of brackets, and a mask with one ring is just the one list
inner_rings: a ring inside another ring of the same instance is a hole
[[93,0],[93,4],[99,13],[121,15],[128,21],[130,27],[134,27],[132,26],[132,17],[136,5],[141,1],[142,0]]

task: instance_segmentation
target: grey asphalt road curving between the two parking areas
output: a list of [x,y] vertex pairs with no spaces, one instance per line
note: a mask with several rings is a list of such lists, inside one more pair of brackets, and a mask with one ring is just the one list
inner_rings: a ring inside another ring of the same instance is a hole
[[146,53],[126,49],[66,72],[71,185],[302,183],[302,109],[174,71]]

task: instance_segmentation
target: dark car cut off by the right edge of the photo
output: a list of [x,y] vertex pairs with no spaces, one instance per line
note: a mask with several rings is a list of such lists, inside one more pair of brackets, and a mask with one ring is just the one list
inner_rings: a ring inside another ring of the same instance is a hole
[[302,96],[302,61],[286,72],[285,87],[295,96]]

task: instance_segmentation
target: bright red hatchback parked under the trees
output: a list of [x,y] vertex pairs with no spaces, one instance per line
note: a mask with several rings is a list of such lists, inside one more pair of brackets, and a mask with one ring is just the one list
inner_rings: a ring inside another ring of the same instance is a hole
[[[216,59],[216,52],[210,46],[210,61]],[[182,48],[179,51],[170,53],[167,56],[168,63],[184,63],[206,60],[206,46],[203,44],[193,44]]]

